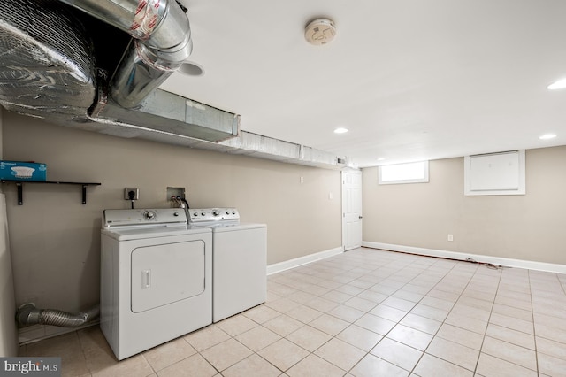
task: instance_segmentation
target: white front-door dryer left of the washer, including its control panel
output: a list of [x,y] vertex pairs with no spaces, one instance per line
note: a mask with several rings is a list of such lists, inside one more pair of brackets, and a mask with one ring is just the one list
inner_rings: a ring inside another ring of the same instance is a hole
[[105,210],[100,327],[128,358],[212,322],[212,233],[179,208]]

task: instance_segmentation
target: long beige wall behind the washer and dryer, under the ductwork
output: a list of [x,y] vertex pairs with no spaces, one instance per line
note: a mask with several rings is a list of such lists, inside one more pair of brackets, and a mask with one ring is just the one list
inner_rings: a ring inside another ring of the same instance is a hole
[[[235,206],[241,221],[266,223],[268,264],[340,247],[340,172],[193,150],[50,125],[4,112],[4,158],[48,165],[49,181],[101,182],[80,204],[80,186],[4,184],[16,303],[65,311],[98,302],[101,215],[169,206],[167,187],[184,187],[191,207]],[[304,177],[304,183],[300,178]],[[329,200],[332,192],[335,199]]]

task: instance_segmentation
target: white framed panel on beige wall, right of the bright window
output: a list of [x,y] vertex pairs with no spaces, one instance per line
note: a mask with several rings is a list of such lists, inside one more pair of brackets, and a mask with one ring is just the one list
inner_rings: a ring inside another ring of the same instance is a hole
[[466,156],[464,195],[524,195],[524,150]]

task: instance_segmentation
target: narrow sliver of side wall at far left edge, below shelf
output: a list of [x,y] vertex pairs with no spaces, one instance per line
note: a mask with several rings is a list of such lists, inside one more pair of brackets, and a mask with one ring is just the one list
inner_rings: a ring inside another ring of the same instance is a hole
[[[2,107],[0,106],[0,157],[2,153]],[[0,185],[0,357],[17,356],[18,341],[14,313],[14,285],[11,272],[10,242],[2,185]]]

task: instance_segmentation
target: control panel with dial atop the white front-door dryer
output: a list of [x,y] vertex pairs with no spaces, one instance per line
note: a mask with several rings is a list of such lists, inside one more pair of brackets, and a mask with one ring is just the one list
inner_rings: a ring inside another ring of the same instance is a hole
[[182,208],[104,210],[103,228],[128,226],[166,226],[187,224]]

